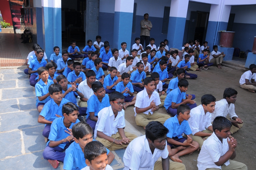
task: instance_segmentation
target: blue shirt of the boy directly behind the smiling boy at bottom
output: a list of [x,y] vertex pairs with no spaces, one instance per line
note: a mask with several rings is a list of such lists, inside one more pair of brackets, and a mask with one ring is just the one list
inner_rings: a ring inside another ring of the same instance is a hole
[[[96,141],[96,140],[92,140]],[[109,154],[109,150],[107,150],[107,155]],[[65,158],[64,158],[64,166],[63,169],[67,170],[80,170],[86,167],[85,158],[84,158],[84,151],[80,147],[79,143],[71,143],[70,146],[65,151]]]

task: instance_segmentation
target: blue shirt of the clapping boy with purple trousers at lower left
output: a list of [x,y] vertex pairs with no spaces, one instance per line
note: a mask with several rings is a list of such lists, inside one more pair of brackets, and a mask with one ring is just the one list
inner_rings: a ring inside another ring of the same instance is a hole
[[[47,142],[47,145],[49,145],[50,140],[59,141],[70,136],[70,134],[65,132],[65,130],[67,130],[67,127],[64,125],[63,120],[64,116],[53,120],[53,123],[51,125],[51,131],[48,137],[49,141]],[[80,122],[78,119],[75,121],[75,123],[72,122],[69,128],[72,129],[72,127],[78,122]],[[59,144],[58,147],[64,149],[67,143],[69,143],[69,141]]]

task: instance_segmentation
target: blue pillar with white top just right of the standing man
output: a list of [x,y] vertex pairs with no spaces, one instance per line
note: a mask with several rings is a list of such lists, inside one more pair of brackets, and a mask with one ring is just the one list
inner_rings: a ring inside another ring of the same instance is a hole
[[181,49],[189,0],[172,0],[168,25],[168,47]]

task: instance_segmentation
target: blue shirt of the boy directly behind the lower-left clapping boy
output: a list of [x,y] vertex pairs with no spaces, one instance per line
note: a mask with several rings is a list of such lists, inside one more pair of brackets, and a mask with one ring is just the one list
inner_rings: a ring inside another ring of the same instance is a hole
[[[53,121],[57,118],[56,115],[62,115],[62,106],[66,104],[68,101],[65,98],[62,98],[60,105],[58,106],[57,103],[53,99],[47,101],[45,103],[40,115],[44,117],[45,120]],[[56,115],[55,115],[56,114]]]

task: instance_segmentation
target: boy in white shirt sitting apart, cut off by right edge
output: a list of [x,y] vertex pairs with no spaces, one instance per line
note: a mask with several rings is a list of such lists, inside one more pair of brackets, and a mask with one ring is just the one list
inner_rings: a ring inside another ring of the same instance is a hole
[[243,89],[247,89],[250,92],[256,92],[256,81],[255,81],[255,77],[256,77],[256,65],[255,64],[251,64],[249,66],[249,71],[246,71],[243,73],[243,75],[240,78],[240,87]]

